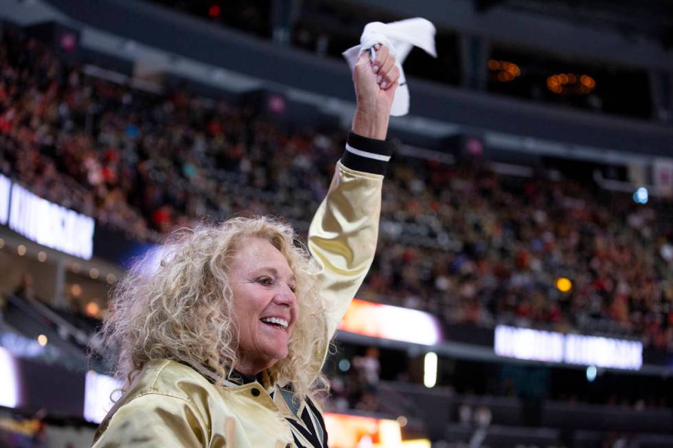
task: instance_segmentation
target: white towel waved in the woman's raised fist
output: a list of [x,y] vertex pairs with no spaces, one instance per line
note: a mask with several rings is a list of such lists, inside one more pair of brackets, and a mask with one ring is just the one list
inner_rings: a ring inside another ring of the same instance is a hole
[[437,57],[435,25],[420,17],[391,23],[367,23],[360,38],[360,45],[343,52],[343,57],[347,60],[351,71],[355,69],[355,63],[360,55],[377,43],[388,47],[390,53],[395,56],[395,64],[400,69],[400,79],[398,80],[400,86],[395,91],[390,115],[393,115],[393,117],[407,115],[409,113],[409,88],[407,87],[407,78],[404,78],[402,62],[407,58],[412,46],[420,47],[426,53]]

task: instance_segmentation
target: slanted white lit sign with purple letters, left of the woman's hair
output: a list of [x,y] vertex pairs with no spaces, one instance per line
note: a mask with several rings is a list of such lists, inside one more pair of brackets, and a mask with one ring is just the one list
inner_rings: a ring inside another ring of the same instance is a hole
[[83,259],[93,255],[93,218],[12,185],[10,228],[38,244]]

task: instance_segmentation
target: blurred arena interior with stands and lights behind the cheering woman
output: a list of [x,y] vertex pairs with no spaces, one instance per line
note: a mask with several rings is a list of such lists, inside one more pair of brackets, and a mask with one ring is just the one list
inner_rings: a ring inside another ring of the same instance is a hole
[[0,0],[0,446],[91,445],[109,294],[163,237],[306,236],[341,52],[422,16],[330,447],[673,447],[673,5],[580,3]]

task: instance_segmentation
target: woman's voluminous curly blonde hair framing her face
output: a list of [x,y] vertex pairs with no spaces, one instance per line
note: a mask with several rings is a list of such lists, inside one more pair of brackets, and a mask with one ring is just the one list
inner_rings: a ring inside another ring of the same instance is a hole
[[240,241],[269,241],[287,259],[297,280],[299,320],[288,342],[288,356],[266,369],[276,384],[291,384],[304,399],[327,388],[321,375],[329,345],[328,323],[310,256],[293,228],[268,217],[233,218],[219,225],[181,229],[161,248],[161,263],[147,272],[139,261],[112,292],[100,340],[118,351],[116,376],[122,391],[153,359],[187,364],[215,384],[235,368],[238,327],[227,270]]

